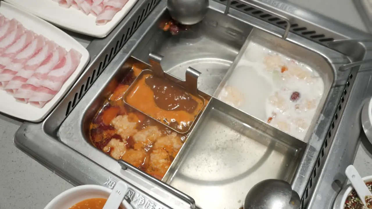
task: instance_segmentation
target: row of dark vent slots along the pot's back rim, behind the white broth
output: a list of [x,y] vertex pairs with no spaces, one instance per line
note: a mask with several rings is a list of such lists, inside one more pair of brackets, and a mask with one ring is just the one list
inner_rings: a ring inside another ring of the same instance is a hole
[[[227,0],[214,1],[227,5]],[[240,12],[246,13],[247,15],[254,16],[260,20],[276,25],[279,28],[285,29],[285,27],[287,26],[286,22],[279,19],[278,17],[274,17],[259,9],[248,6],[247,4],[240,3],[239,1],[231,1],[230,7]],[[326,37],[324,34],[317,33],[315,30],[310,30],[307,27],[299,26],[298,24],[292,24],[290,31],[304,38],[311,39],[312,41],[322,45],[326,45],[328,42],[334,40],[334,38]]]

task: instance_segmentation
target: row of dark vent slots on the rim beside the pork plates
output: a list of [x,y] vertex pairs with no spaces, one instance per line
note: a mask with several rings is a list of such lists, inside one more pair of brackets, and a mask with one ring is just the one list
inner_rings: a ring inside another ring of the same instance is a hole
[[[132,24],[128,24],[129,26],[128,28],[123,30],[125,31],[125,33],[123,33],[122,36],[117,36],[118,37],[117,40],[113,41],[113,43],[116,42],[116,44],[110,50],[108,50],[109,53],[106,54],[105,56],[101,56],[101,60],[96,61],[96,62],[100,62],[99,67],[94,69],[92,74],[87,78],[86,83],[82,84],[82,86],[77,89],[77,91],[75,92],[75,96],[73,97],[73,100],[68,102],[65,116],[71,113],[71,111],[80,101],[80,99],[89,90],[89,87],[92,86],[94,81],[97,80],[99,75],[105,70],[105,68],[108,66],[110,61],[115,57],[115,55],[119,52],[119,50],[124,46],[124,44],[128,41],[128,39],[133,35],[136,29],[141,25],[141,23],[146,19],[146,17],[154,9],[158,1],[160,0],[152,0],[151,2],[145,4],[144,7],[146,7],[146,9],[143,9],[142,13],[138,15],[136,18],[134,18],[134,21],[132,22]],[[74,93],[71,92],[71,94],[74,94]]]

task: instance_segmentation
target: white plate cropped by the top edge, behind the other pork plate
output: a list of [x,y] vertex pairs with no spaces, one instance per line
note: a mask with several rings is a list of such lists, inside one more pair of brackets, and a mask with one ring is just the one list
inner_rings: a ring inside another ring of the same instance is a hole
[[77,33],[103,38],[106,37],[132,9],[137,0],[128,0],[106,25],[96,25],[96,16],[85,15],[75,8],[64,8],[53,0],[5,0],[17,8],[32,13],[44,20]]

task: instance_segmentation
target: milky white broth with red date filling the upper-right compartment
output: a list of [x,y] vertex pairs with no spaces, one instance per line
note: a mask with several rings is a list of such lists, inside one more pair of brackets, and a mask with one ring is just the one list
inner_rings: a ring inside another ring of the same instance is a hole
[[323,94],[315,70],[251,42],[218,99],[303,141]]

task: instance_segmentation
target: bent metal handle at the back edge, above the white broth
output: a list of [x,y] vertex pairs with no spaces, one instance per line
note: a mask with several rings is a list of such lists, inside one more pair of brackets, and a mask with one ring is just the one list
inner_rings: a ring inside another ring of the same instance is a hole
[[[225,15],[227,15],[229,13],[229,10],[230,10],[230,7],[231,7],[231,1],[232,0],[227,0]],[[271,11],[273,9],[272,7],[270,7],[269,5],[267,5],[265,3],[257,1],[257,0],[234,0],[234,1],[239,1],[243,4],[250,4],[251,6],[255,7],[256,9],[262,10],[262,11],[264,11],[264,12],[266,12],[266,13],[274,16],[274,17],[278,17],[279,19],[284,20],[287,23],[287,25],[285,27],[285,31],[282,35],[282,38],[283,39],[287,38],[288,33],[289,33],[289,29],[291,29],[291,22],[290,22],[288,17],[285,17],[283,15],[279,15],[278,13],[272,12]]]

